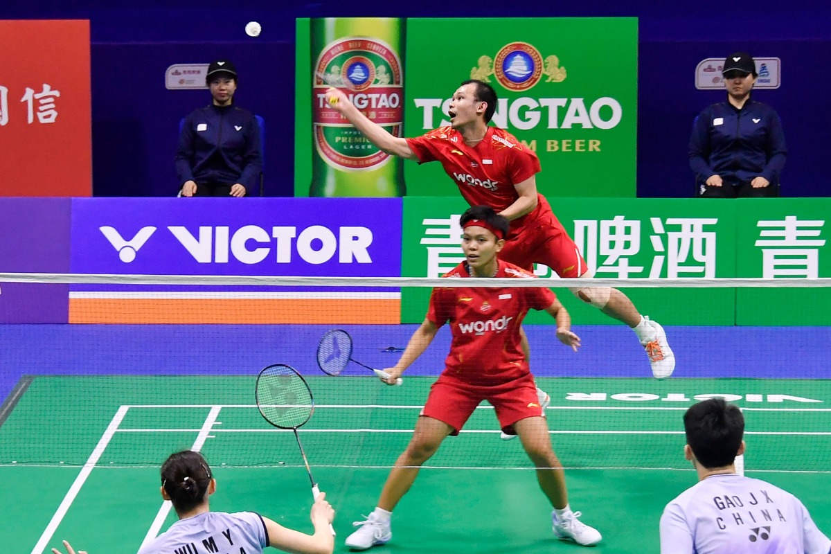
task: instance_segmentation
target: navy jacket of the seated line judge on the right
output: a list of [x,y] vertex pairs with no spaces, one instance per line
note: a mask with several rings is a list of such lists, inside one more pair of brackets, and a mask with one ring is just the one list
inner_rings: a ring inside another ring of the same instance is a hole
[[787,153],[779,115],[752,98],[741,110],[728,101],[713,104],[692,125],[690,167],[696,184],[715,174],[725,184],[744,184],[756,177],[779,184]]

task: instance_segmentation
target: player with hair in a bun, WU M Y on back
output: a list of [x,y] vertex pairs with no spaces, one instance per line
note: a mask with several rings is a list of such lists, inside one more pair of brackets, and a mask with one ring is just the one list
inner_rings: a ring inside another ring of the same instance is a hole
[[139,554],[259,554],[264,547],[305,554],[331,554],[329,524],[335,512],[321,494],[312,505],[314,535],[278,525],[254,512],[211,512],[208,497],[216,480],[202,454],[175,453],[161,467],[161,495],[179,521],[139,550]]

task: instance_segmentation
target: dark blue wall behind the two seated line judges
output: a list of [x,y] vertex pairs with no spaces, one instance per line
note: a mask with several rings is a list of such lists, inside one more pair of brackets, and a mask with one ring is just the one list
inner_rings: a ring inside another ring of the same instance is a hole
[[[778,56],[783,86],[757,91],[783,120],[789,145],[784,196],[829,196],[831,2],[289,2],[288,0],[6,0],[0,18],[91,20],[93,189],[96,196],[167,196],[177,183],[179,119],[209,102],[207,91],[167,91],[172,63],[229,57],[238,66],[238,105],[267,121],[265,194],[293,194],[294,19],[323,16],[638,17],[638,196],[693,194],[686,143],[693,118],[722,100],[697,91],[696,64],[747,50]],[[248,21],[263,25],[247,37]],[[487,32],[487,24],[483,25]],[[448,39],[453,43],[464,37]],[[60,55],[60,45],[55,45]],[[465,76],[444,76],[448,94]],[[602,79],[602,75],[597,76]],[[543,172],[543,179],[545,173]]]

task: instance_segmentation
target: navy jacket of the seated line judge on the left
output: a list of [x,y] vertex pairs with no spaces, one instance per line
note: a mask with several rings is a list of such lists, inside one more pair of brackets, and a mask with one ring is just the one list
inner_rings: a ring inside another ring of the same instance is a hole
[[235,105],[194,110],[182,125],[176,172],[185,181],[235,184],[252,195],[263,168],[257,118]]

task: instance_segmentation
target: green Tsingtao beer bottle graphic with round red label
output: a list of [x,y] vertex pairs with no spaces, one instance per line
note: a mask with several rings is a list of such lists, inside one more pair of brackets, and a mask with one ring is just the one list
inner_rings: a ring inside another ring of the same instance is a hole
[[337,86],[367,117],[401,136],[404,20],[325,17],[311,21],[312,186],[309,196],[403,196],[401,158],[372,145],[325,99]]

